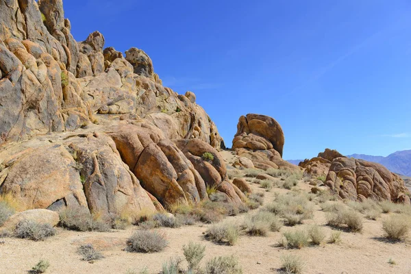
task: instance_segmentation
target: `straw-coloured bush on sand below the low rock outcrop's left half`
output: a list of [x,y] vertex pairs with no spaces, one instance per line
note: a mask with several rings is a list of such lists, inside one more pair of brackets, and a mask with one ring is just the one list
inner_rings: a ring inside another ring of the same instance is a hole
[[341,210],[326,216],[327,224],[332,227],[346,227],[350,232],[362,231],[362,218],[353,210]]

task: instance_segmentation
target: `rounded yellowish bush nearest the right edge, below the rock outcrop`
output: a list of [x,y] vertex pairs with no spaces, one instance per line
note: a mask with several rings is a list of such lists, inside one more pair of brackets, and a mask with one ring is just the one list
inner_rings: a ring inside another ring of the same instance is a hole
[[411,228],[411,219],[404,215],[390,216],[382,222],[382,229],[389,240],[404,240]]

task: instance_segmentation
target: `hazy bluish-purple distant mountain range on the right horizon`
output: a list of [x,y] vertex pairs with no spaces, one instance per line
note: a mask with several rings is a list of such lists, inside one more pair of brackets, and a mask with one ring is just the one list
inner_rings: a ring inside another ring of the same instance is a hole
[[[377,162],[386,166],[387,169],[394,173],[401,175],[411,176],[411,150],[397,151],[388,155],[383,156],[373,156],[365,154],[352,154],[347,155],[349,158],[362,159],[370,162]],[[288,160],[291,164],[299,164],[303,160]]]

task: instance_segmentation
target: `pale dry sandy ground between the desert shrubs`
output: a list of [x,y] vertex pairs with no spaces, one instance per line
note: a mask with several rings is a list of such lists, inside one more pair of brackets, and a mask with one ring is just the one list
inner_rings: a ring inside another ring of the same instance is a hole
[[[226,155],[229,156],[229,155]],[[229,161],[228,161],[229,162]],[[264,192],[257,184],[251,184],[254,191]],[[310,186],[299,182],[297,186],[309,191]],[[275,193],[290,190],[273,188],[265,192],[264,203],[273,201]],[[169,247],[160,253],[129,253],[125,251],[125,241],[137,227],[113,232],[72,232],[58,229],[58,234],[42,242],[21,240],[16,238],[0,239],[0,273],[27,273],[40,259],[51,264],[47,273],[126,273],[135,269],[138,273],[145,266],[149,273],[159,273],[163,262],[173,256],[183,258],[182,246],[190,241],[206,245],[206,262],[214,256],[238,256],[244,273],[278,273],[281,267],[280,256],[286,253],[301,256],[306,266],[303,273],[410,273],[411,274],[411,242],[389,243],[381,240],[382,220],[388,214],[382,214],[377,221],[364,218],[362,233],[342,232],[339,245],[322,244],[319,247],[303,249],[284,249],[277,243],[282,233],[289,229],[306,227],[312,223],[321,225],[327,234],[332,229],[325,225],[325,213],[315,205],[314,218],[304,221],[303,225],[282,227],[280,232],[270,232],[267,237],[251,237],[242,235],[234,246],[216,245],[204,239],[208,225],[197,223],[194,226],[179,228],[159,228],[169,240]],[[228,217],[241,221],[244,214]],[[105,258],[93,264],[82,261],[76,253],[77,247],[84,243],[92,243]],[[388,264],[392,258],[397,264]]]

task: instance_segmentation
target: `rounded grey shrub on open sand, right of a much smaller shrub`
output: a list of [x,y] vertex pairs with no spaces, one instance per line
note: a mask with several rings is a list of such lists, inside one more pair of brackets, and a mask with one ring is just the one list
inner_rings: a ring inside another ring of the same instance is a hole
[[169,242],[164,234],[149,230],[138,230],[127,239],[127,250],[130,252],[153,253],[162,251]]

